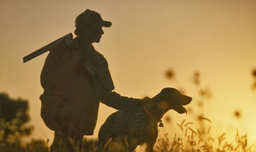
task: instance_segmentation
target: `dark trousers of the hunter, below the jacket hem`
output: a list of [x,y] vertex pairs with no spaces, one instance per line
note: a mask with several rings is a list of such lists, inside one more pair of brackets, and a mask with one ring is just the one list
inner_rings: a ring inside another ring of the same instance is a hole
[[50,152],[80,152],[84,135],[79,132],[79,125],[70,119],[62,120],[58,124]]

